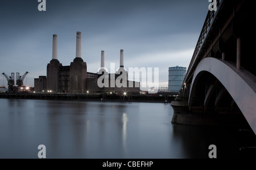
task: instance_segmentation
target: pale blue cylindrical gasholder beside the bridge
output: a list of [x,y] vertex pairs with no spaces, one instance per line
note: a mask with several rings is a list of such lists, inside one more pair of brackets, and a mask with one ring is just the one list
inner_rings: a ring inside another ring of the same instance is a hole
[[183,84],[185,74],[187,73],[186,67],[170,67],[169,68],[169,83],[168,90],[170,92],[179,92]]

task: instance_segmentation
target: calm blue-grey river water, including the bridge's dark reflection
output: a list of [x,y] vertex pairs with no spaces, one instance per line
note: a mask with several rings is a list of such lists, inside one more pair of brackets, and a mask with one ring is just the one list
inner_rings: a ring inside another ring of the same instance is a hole
[[170,159],[237,156],[234,130],[172,125],[172,107],[159,103],[110,103],[0,99],[0,158]]

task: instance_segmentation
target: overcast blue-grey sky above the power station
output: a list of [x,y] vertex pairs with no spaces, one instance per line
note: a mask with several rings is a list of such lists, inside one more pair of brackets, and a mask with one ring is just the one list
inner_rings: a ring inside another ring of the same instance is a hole
[[[0,1],[0,72],[24,74],[24,85],[46,75],[52,59],[52,35],[58,35],[58,59],[68,66],[76,55],[76,32],[82,33],[82,59],[88,71],[119,66],[159,67],[160,86],[168,87],[168,67],[188,67],[208,12],[208,0],[38,0]],[[7,81],[0,76],[0,86]]]

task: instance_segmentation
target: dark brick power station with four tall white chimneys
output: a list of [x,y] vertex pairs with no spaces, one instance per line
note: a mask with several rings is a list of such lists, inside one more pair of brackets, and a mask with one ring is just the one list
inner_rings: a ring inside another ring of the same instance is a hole
[[[120,77],[121,80],[118,79]],[[113,84],[113,82],[115,83]],[[122,86],[119,86],[120,83],[116,82],[120,82]],[[98,86],[99,83],[104,84],[104,86]],[[76,35],[76,58],[69,66],[63,66],[58,60],[57,35],[53,35],[52,60],[47,65],[47,77],[39,76],[35,79],[35,91],[38,92],[68,92],[71,94],[129,92],[129,94],[139,94],[139,90],[139,82],[127,80],[127,71],[123,67],[122,49],[120,52],[120,67],[117,73],[106,73],[104,51],[101,51],[101,69],[99,72],[89,73],[86,62],[81,58],[81,32],[77,32]]]

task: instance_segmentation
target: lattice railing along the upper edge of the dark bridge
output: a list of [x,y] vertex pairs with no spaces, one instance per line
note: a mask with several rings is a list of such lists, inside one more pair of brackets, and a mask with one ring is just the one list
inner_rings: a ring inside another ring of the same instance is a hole
[[207,38],[210,28],[212,27],[214,17],[216,16],[218,10],[220,9],[219,7],[221,5],[221,2],[223,2],[224,0],[215,0],[215,1],[216,1],[216,10],[212,10],[212,11],[209,10],[209,12],[207,14],[207,17],[206,17],[204,25],[203,25],[203,29],[200,33],[199,40],[197,41],[196,48],[193,53],[193,56],[192,56],[191,62],[189,64],[188,71],[187,71],[187,74],[185,75],[184,80],[187,80],[188,76],[191,74],[193,65],[194,65],[197,57],[199,56],[199,53],[200,53],[201,48],[205,42],[205,39]]

